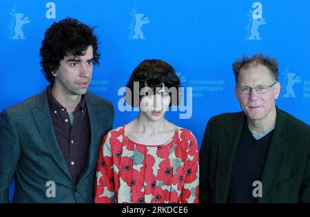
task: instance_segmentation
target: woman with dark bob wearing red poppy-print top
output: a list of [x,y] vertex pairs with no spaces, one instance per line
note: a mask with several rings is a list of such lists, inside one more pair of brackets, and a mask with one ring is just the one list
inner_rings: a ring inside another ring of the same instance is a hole
[[111,130],[101,144],[95,203],[198,203],[198,145],[190,130],[165,119],[178,104],[180,80],[162,60],[141,62],[125,99],[139,107],[129,124]]

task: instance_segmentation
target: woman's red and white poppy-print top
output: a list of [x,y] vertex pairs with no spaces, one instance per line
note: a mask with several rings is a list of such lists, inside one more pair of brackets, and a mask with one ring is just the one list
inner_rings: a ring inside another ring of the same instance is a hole
[[198,203],[199,157],[191,131],[176,128],[166,144],[136,144],[125,126],[103,138],[95,203]]

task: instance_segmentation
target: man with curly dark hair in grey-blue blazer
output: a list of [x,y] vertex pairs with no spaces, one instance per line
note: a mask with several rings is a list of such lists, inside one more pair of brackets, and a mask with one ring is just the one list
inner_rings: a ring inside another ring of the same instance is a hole
[[41,66],[50,85],[0,115],[0,203],[92,203],[111,102],[87,93],[99,65],[94,28],[63,19],[45,32]]

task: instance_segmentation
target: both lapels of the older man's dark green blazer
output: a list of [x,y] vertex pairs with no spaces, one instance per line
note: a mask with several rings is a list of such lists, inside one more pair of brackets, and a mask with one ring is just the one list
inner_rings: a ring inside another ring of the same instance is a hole
[[[269,144],[269,150],[262,172],[262,198],[258,198],[258,203],[265,203],[271,196],[272,189],[278,181],[278,175],[285,158],[285,141],[287,141],[285,116],[278,107],[276,107],[276,115],[276,128]],[[231,170],[245,121],[245,113],[237,113],[231,123],[225,128],[225,136],[220,139],[218,144],[215,203],[227,203]]]

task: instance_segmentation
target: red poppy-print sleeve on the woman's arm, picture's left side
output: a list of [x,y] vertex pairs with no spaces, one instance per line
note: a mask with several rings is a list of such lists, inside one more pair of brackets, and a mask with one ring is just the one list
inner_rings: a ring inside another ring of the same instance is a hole
[[103,137],[96,167],[94,203],[114,203],[115,183],[110,133]]

